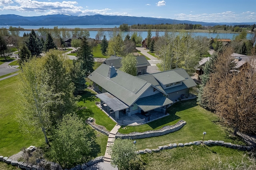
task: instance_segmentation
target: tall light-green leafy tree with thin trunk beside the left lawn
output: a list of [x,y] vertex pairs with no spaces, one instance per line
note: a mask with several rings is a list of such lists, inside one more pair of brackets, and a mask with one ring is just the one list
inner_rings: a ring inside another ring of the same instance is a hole
[[17,100],[17,121],[20,129],[28,135],[44,134],[49,144],[47,132],[52,125],[50,110],[55,103],[62,103],[54,89],[46,83],[49,75],[42,66],[42,59],[34,58],[22,65]]

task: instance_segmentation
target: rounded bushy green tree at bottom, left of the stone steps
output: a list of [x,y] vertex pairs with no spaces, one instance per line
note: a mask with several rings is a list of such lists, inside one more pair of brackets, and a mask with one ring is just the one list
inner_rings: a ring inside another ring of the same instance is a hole
[[87,162],[92,150],[89,129],[77,115],[65,115],[54,130],[52,158],[63,168]]

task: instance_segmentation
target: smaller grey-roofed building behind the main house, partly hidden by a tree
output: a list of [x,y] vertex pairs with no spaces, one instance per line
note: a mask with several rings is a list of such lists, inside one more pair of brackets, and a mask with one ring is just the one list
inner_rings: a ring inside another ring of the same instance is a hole
[[[137,56],[137,75],[143,75],[147,73],[148,66],[150,63],[144,56]],[[108,59],[104,61],[104,64],[107,64],[109,66],[113,65],[116,69],[119,69],[122,67],[121,64],[122,57],[118,57],[116,55],[111,55]]]

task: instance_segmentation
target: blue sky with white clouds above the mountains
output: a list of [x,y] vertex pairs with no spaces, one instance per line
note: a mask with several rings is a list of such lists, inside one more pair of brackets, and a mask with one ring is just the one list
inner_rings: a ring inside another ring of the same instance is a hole
[[101,14],[201,22],[256,22],[256,0],[0,0],[0,14]]

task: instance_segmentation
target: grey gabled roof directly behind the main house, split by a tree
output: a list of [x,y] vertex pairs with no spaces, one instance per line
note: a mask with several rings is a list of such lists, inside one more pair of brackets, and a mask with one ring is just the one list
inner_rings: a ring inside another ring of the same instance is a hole
[[[149,66],[150,63],[148,62],[148,60],[144,57],[144,56],[136,56],[136,59],[137,59],[137,65],[136,67],[145,67],[145,66]],[[118,57],[116,55],[111,55],[108,59],[106,59],[104,61],[105,64],[107,65],[113,65],[114,67],[116,67],[117,69],[121,68],[122,67],[122,64],[121,64],[121,60],[122,60],[122,57]]]

